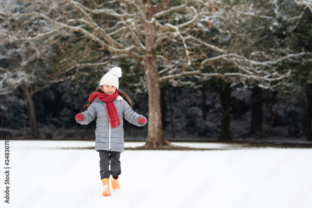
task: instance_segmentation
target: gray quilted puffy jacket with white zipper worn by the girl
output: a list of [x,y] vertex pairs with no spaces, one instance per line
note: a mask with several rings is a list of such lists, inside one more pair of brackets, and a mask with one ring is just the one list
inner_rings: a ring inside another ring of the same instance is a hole
[[[131,109],[127,101],[125,101],[120,95],[117,96],[113,103],[116,107],[120,125],[111,128],[110,121],[108,118],[107,110],[106,110],[106,103],[100,101],[98,98],[95,98],[92,103],[90,104],[87,111],[81,113],[83,119],[78,121],[77,123],[81,124],[88,124],[95,116],[96,119],[96,129],[95,129],[95,150],[107,150],[107,151],[115,151],[115,152],[124,152],[124,122],[123,118],[125,118],[130,123],[136,126],[144,126],[147,123],[147,119],[134,112]],[[146,119],[144,124],[139,123],[139,118]]]

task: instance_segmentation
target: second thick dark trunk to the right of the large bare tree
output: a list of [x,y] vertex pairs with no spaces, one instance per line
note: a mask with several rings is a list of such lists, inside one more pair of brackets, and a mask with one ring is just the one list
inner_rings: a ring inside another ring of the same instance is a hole
[[255,86],[251,89],[251,125],[250,134],[262,132],[262,88]]

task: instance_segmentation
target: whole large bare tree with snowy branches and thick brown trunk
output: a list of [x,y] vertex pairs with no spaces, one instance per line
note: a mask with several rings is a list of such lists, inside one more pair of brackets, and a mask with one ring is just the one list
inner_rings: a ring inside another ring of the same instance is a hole
[[[239,23],[244,22],[242,20],[250,17],[270,20],[273,17],[237,2],[94,0],[90,4],[84,0],[42,0],[35,5],[31,1],[23,3],[23,12],[16,12],[6,5],[0,11],[2,21],[20,22],[16,28],[1,28],[4,41],[40,40],[41,45],[37,46],[42,48],[41,51],[51,49],[52,45],[63,51],[74,51],[75,41],[86,40],[83,51],[64,57],[58,63],[61,67],[51,69],[53,73],[46,76],[54,79],[48,82],[88,75],[84,71],[86,67],[105,66],[118,58],[140,63],[149,90],[145,147],[170,145],[163,135],[161,82],[194,85],[185,79],[199,75],[202,79],[218,77],[228,83],[254,83],[256,80],[260,87],[271,89],[291,73],[291,69],[276,70],[276,64],[306,54],[304,51],[275,53],[257,50],[246,56],[241,52],[241,46],[236,47],[229,37],[233,34],[241,38],[248,36],[245,28],[238,28]],[[47,27],[32,29],[34,23],[43,20],[48,22]],[[64,47],[66,41],[71,44]],[[83,47],[80,45],[80,48]],[[271,85],[273,82],[275,84]]]

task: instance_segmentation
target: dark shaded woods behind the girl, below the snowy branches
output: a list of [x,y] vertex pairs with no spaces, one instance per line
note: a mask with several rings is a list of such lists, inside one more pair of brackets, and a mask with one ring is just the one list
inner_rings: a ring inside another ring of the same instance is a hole
[[[121,88],[133,99],[133,109],[148,117],[148,93],[135,94],[135,89],[129,85]],[[22,89],[19,90],[22,94]],[[1,136],[13,134],[31,138],[30,128],[38,126],[37,138],[94,138],[95,121],[80,125],[74,119],[92,90],[93,87],[66,81],[36,92],[32,99],[37,124],[29,119],[32,112],[28,110],[27,99],[16,93],[6,100],[11,107],[1,112]],[[230,85],[223,89],[209,84],[193,88],[164,86],[161,99],[164,134],[171,141],[193,138],[230,141],[258,134],[261,138],[306,137],[311,140],[308,122],[311,120],[311,92],[309,81],[291,94],[258,87],[231,88]],[[144,140],[146,137],[146,127],[139,129],[125,122],[124,129],[125,138]]]

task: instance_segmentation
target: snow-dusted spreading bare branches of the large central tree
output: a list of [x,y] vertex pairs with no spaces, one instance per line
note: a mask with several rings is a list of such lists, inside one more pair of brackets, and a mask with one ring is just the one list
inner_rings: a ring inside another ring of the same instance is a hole
[[[295,1],[311,7],[311,1]],[[161,81],[200,75],[242,82],[256,80],[260,86],[269,87],[270,82],[281,83],[290,74],[287,69],[277,70],[277,64],[284,60],[295,62],[298,57],[310,54],[296,51],[295,47],[285,49],[265,35],[267,31],[263,28],[278,25],[279,21],[270,16],[274,9],[268,9],[266,3],[257,8],[221,0],[179,0],[178,6],[172,1],[157,1],[155,6],[155,1],[127,0],[92,4],[89,8],[81,0],[62,1],[66,5],[52,1],[48,6],[46,1],[38,2],[43,5],[38,10],[34,7],[23,12],[0,10],[6,22],[0,37],[7,42],[48,44],[61,36],[63,42],[56,45],[64,56],[58,61],[61,68],[54,74],[59,81],[75,78],[83,73],[79,70],[84,67],[99,69],[111,59],[126,57],[143,68],[144,57],[154,56],[150,60],[157,60]],[[303,17],[303,12],[299,16],[297,11],[292,14],[295,14],[291,19],[294,22],[300,22]],[[17,27],[10,28],[10,21],[16,22]],[[48,22],[49,26],[39,27],[40,21]],[[268,39],[268,43],[260,43]],[[87,44],[76,49],[73,43],[80,40],[87,40]],[[66,50],[81,56],[67,56]],[[36,59],[27,57],[25,52],[21,57],[23,66]]]

